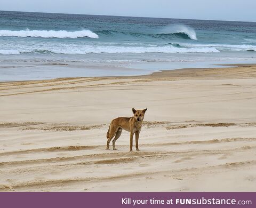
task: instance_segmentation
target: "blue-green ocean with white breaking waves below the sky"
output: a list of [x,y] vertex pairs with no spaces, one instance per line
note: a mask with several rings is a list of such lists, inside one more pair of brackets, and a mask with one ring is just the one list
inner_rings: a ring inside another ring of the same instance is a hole
[[256,62],[256,22],[0,11],[0,81]]

